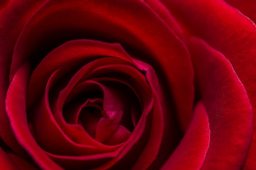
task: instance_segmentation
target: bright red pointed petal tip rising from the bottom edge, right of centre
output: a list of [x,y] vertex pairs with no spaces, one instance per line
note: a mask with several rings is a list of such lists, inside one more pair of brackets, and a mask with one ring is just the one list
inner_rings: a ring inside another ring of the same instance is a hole
[[209,141],[208,116],[202,102],[198,102],[182,141],[161,170],[199,170],[204,163]]

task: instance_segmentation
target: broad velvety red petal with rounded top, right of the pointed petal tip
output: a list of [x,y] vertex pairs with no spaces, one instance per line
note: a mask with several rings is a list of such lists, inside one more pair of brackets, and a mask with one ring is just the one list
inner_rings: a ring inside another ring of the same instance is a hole
[[202,170],[240,170],[252,136],[252,106],[228,60],[206,42],[189,40],[195,84],[211,138]]

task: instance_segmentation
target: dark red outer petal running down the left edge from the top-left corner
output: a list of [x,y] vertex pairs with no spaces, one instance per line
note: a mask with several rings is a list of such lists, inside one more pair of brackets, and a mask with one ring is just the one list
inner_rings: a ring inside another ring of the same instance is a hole
[[7,88],[9,86],[9,68],[11,55],[18,35],[27,22],[28,17],[43,3],[43,0],[6,0],[0,1],[0,136],[4,142],[20,155],[25,155],[10,128],[10,122],[4,106]]

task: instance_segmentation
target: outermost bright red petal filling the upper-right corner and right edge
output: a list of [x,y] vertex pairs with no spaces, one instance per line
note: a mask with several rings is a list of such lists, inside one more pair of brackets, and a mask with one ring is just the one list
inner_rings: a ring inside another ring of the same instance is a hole
[[[231,63],[245,86],[254,116],[254,132],[245,169],[255,169],[256,163],[256,26],[237,9],[222,0],[162,0],[184,27],[206,40]],[[230,2],[230,1],[228,1]],[[235,1],[233,1],[235,3]],[[238,1],[236,1],[237,3]],[[255,14],[254,3],[245,8],[248,16]],[[242,11],[242,9],[241,9]],[[243,12],[243,11],[242,11]],[[246,15],[246,14],[245,14]],[[255,21],[255,20],[254,20]]]

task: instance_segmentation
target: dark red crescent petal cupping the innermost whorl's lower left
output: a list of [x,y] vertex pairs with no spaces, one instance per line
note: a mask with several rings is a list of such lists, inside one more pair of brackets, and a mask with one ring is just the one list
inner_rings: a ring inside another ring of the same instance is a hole
[[[61,69],[50,77],[45,96],[34,110],[36,114],[33,115],[31,123],[34,125],[35,138],[38,144],[46,151],[57,155],[90,155],[114,151],[117,147],[106,146],[95,142],[95,140],[85,132],[82,126],[77,124],[74,126],[60,126],[61,124],[56,122],[56,119],[52,115],[52,110],[49,107],[48,92],[53,84],[56,83],[54,81],[58,81],[56,77],[59,78],[60,73]],[[63,132],[63,130],[65,130],[65,132]],[[70,139],[71,137],[76,140],[86,141],[86,143],[76,143]],[[67,149],[63,150],[63,148]]]

